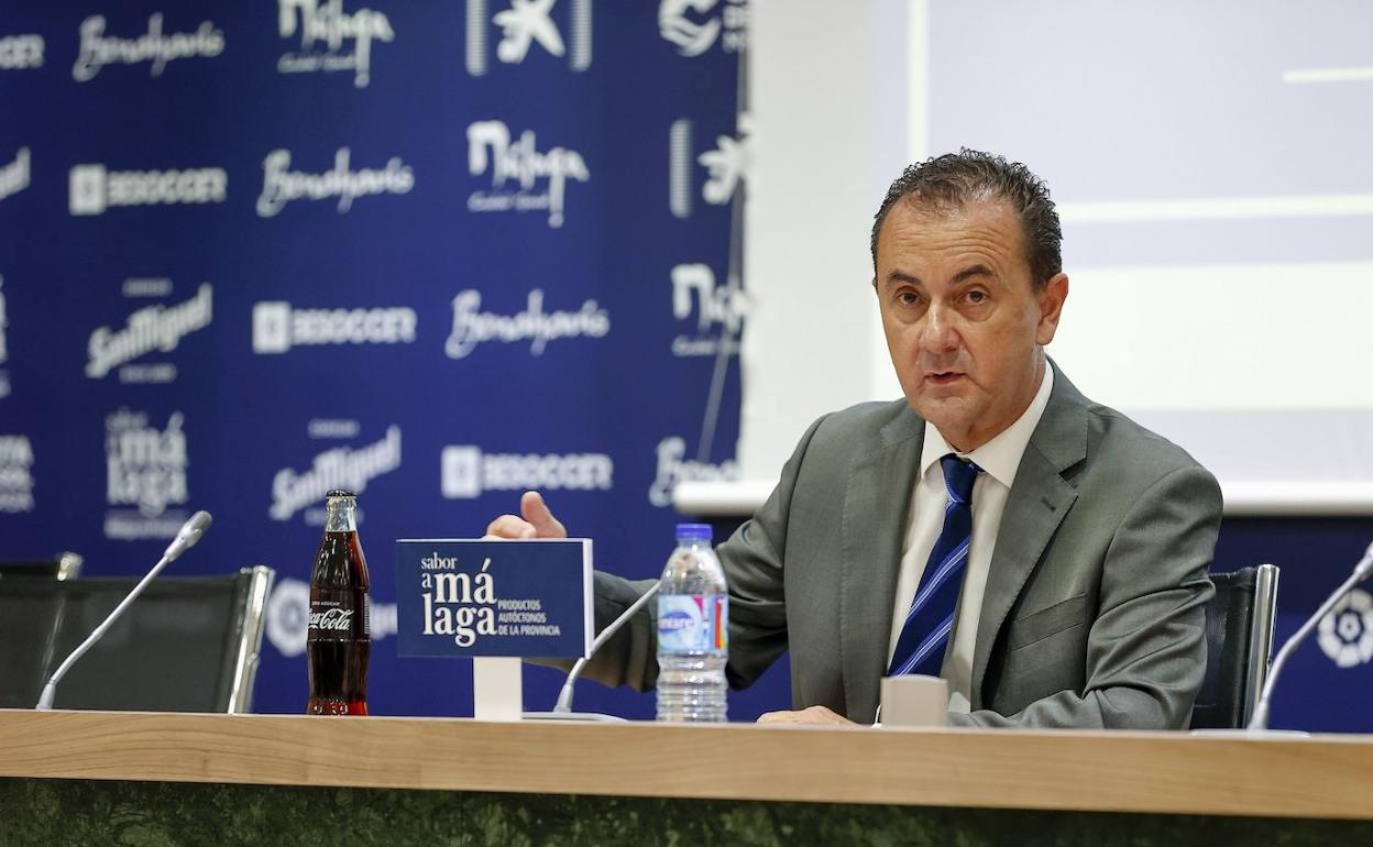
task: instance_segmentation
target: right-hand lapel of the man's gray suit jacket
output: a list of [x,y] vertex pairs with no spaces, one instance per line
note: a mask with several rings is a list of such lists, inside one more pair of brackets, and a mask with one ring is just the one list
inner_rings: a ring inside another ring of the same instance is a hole
[[982,684],[1001,626],[1078,498],[1063,472],[1087,454],[1086,406],[1086,398],[1054,368],[1053,393],[1016,469],[991,555],[972,658],[975,710],[983,707]]

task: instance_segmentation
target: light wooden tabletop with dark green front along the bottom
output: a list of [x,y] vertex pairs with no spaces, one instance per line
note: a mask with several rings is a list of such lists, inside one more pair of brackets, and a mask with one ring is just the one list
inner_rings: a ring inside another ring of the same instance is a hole
[[[864,843],[888,831],[897,843],[920,832],[1190,843],[1177,839],[1203,831],[1232,843],[1373,843],[1366,736],[0,710],[0,777],[14,777],[0,791],[4,820],[47,810],[51,821],[21,831],[49,840],[80,820],[96,839],[132,821],[151,833],[144,843],[213,826],[221,844],[235,833],[254,843],[253,832],[312,843],[306,833],[328,826],[371,826],[389,839],[378,843],[524,843],[519,826],[527,843],[655,843],[673,828],[695,833],[682,843],[722,844]],[[827,826],[829,840],[796,840]]]

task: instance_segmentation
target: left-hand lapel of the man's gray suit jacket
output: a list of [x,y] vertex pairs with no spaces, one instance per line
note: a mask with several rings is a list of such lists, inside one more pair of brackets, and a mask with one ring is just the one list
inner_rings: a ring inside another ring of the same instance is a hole
[[846,707],[859,721],[870,721],[877,711],[923,442],[924,421],[903,409],[881,428],[883,448],[849,468],[839,630]]

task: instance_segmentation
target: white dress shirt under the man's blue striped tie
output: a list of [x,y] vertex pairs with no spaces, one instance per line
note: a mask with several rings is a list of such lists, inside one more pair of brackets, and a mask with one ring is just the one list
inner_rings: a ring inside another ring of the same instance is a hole
[[906,612],[916,597],[920,577],[925,570],[930,552],[943,531],[947,491],[943,483],[943,469],[939,459],[954,453],[978,464],[984,472],[978,474],[972,486],[972,541],[968,545],[967,572],[962,578],[962,592],[958,594],[957,626],[953,630],[953,645],[945,653],[943,677],[949,680],[949,711],[967,712],[972,691],[972,653],[978,642],[978,619],[982,616],[982,596],[987,586],[987,571],[991,567],[991,553],[997,546],[997,531],[1001,529],[1001,513],[1006,508],[1011,486],[1016,480],[1020,457],[1030,445],[1043,409],[1049,405],[1053,390],[1053,367],[1045,362],[1043,380],[1030,406],[1013,424],[995,438],[971,453],[958,453],[949,446],[945,437],[934,426],[925,426],[925,442],[920,450],[920,475],[916,478],[914,496],[910,498],[910,520],[906,524],[906,539],[901,553],[901,572],[897,577],[897,604],[891,618],[891,642],[887,647],[888,664],[906,622]]

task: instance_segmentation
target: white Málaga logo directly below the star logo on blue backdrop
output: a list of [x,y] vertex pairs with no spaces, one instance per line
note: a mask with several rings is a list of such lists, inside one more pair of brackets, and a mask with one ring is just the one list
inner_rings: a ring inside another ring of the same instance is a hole
[[534,130],[511,139],[503,121],[478,121],[467,128],[467,170],[489,176],[490,191],[475,191],[468,211],[548,211],[548,225],[563,225],[568,183],[590,181],[582,154],[564,147],[538,150]]

